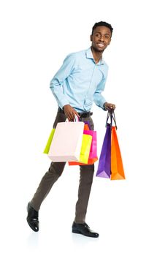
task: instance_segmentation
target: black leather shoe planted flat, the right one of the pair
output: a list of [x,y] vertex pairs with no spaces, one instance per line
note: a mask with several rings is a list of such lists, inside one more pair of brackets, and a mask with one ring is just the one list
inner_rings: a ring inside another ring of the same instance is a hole
[[83,236],[89,236],[93,238],[99,237],[99,234],[96,232],[93,232],[86,223],[80,224],[80,223],[73,222],[72,233],[82,234]]

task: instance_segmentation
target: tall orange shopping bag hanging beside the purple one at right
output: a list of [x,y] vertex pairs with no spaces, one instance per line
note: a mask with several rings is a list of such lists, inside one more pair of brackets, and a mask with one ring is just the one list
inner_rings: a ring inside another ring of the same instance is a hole
[[125,179],[116,127],[112,127],[111,137],[111,179]]

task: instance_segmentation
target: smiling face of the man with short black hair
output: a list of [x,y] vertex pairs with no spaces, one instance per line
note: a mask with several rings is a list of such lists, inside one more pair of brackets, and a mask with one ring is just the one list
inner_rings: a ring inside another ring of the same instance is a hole
[[91,34],[92,48],[97,52],[103,52],[110,45],[111,36],[107,26],[97,26]]

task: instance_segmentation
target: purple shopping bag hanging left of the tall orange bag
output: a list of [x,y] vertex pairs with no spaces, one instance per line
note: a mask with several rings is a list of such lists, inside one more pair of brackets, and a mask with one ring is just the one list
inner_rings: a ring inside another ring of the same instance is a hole
[[111,125],[107,124],[104,141],[99,157],[99,165],[96,173],[97,177],[110,178],[111,173]]

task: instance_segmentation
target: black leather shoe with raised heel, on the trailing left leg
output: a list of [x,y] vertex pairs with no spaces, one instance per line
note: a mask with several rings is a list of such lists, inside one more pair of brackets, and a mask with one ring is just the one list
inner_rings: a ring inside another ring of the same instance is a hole
[[28,225],[35,232],[39,231],[39,219],[38,219],[39,212],[34,210],[34,208],[30,206],[30,203],[28,203],[27,211],[28,211],[28,216],[26,219],[27,219]]

